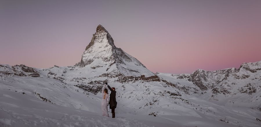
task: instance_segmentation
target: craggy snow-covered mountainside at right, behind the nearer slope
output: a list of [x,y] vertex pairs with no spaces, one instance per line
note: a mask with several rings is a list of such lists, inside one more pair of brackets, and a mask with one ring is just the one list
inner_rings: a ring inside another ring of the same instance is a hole
[[[198,69],[192,74],[163,74],[158,76],[173,83],[200,88],[196,96],[220,105],[240,105],[261,111],[261,61],[243,63],[239,69],[217,71]],[[190,89],[192,90],[192,89]],[[192,94],[192,93],[191,93]]]

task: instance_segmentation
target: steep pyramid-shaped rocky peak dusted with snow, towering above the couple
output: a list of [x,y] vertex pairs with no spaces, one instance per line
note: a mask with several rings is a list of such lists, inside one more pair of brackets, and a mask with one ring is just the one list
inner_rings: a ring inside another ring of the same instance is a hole
[[105,71],[114,71],[125,76],[154,75],[139,60],[117,48],[113,38],[102,25],[97,26],[96,33],[87,45],[81,61],[76,65],[85,67],[91,64],[104,67]]

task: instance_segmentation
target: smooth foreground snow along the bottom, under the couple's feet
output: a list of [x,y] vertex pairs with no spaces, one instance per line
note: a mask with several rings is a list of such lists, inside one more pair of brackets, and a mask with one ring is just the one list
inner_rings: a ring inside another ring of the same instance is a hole
[[[10,90],[0,90],[0,126],[233,126],[199,117],[116,114],[117,118],[41,101]],[[94,105],[93,105],[94,106]],[[99,105],[98,105],[99,106]]]

